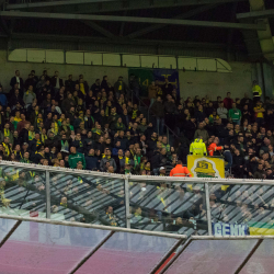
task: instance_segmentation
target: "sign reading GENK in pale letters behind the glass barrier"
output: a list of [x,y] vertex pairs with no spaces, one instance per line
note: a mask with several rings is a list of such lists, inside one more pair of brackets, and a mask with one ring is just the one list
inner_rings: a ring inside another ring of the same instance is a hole
[[224,222],[213,222],[214,236],[247,236],[249,227],[247,225],[230,225]]

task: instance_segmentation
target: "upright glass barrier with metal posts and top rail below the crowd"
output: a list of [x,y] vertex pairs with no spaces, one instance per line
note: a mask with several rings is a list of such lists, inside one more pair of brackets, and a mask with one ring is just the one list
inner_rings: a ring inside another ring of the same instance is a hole
[[212,236],[214,224],[247,225],[252,235],[274,231],[273,180],[123,175],[1,161],[0,197],[0,214],[22,217],[187,236]]

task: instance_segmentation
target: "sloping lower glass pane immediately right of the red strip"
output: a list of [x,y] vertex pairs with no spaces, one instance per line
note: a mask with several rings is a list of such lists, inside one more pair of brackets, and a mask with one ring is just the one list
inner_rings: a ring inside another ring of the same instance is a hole
[[194,240],[164,273],[237,273],[256,242],[258,240]]

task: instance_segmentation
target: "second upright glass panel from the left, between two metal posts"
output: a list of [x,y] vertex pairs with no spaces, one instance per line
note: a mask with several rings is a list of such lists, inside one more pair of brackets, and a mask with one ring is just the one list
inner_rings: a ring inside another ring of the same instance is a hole
[[125,180],[50,172],[50,218],[125,227]]

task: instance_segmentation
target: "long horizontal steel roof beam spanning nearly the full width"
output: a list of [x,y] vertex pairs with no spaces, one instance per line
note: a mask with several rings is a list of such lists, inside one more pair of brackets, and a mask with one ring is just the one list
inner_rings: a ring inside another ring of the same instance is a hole
[[172,19],[158,19],[158,18],[134,18],[134,16],[114,16],[114,15],[94,15],[94,14],[84,15],[84,14],[65,14],[65,13],[1,11],[0,16],[26,18],[26,19],[36,18],[36,19],[155,23],[155,24],[191,25],[191,26],[222,27],[222,28],[247,28],[247,30],[258,30],[258,31],[266,30],[266,26],[264,24],[241,24],[241,23],[208,22],[208,21],[194,21],[194,20],[172,20]]

